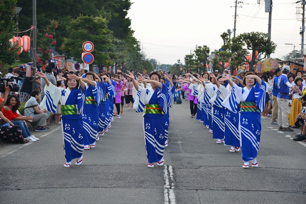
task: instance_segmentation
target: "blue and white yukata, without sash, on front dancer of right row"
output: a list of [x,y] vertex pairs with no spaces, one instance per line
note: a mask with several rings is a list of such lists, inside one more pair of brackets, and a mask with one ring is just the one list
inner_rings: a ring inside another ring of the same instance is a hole
[[[235,83],[230,95],[222,102],[222,105],[230,111],[236,113],[240,102],[255,102],[256,108],[263,112],[266,98],[266,83],[257,82],[255,87],[250,90],[247,87],[238,87]],[[240,111],[239,128],[240,146],[242,160],[250,161],[257,157],[260,141],[260,112],[259,111]]]

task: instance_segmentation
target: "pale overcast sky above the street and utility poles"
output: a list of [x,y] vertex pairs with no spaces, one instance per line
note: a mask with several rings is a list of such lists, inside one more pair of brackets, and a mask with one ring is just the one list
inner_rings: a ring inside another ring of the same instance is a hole
[[[268,32],[269,13],[264,0],[238,0],[236,36],[243,32]],[[272,58],[282,58],[293,50],[300,50],[301,20],[297,20],[298,0],[274,0],[271,39],[277,44]],[[235,0],[132,0],[128,16],[132,20],[134,36],[140,41],[147,57],[160,64],[184,63],[186,54],[196,45],[210,50],[222,45],[220,35],[234,28]],[[232,8],[231,8],[232,6]],[[248,17],[249,16],[249,17]],[[255,18],[256,17],[256,18]],[[285,20],[284,20],[285,19]],[[300,15],[301,19],[301,15]],[[231,34],[233,37],[233,33]],[[304,44],[306,41],[304,40]]]

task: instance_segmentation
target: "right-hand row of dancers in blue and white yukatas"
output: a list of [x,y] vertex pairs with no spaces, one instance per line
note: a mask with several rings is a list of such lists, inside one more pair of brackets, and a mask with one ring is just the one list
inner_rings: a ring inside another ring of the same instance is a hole
[[[189,90],[197,104],[196,119],[203,122],[217,144],[230,146],[230,152],[242,152],[243,168],[258,167],[261,121],[264,110],[266,83],[253,72],[243,80],[237,76],[216,76],[204,72],[190,74],[181,90]],[[179,91],[177,89],[176,91]]]

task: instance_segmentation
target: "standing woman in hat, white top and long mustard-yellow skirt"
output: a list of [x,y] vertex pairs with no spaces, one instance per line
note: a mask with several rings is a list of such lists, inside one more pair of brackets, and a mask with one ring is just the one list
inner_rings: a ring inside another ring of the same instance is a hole
[[297,76],[294,79],[294,83],[296,84],[297,91],[293,91],[292,97],[292,105],[291,105],[291,114],[290,114],[290,124],[294,128],[294,123],[296,122],[297,115],[300,113],[302,102],[299,100],[299,97],[303,95],[303,90],[305,86],[303,85],[304,80]]

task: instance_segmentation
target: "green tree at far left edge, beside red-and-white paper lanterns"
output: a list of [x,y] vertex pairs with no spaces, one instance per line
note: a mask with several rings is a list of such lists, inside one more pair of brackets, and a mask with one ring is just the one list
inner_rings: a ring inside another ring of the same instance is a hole
[[17,0],[3,0],[0,2],[0,70],[3,73],[7,65],[17,61],[17,43],[12,44],[12,39],[17,33],[17,25],[13,20],[16,15]]

